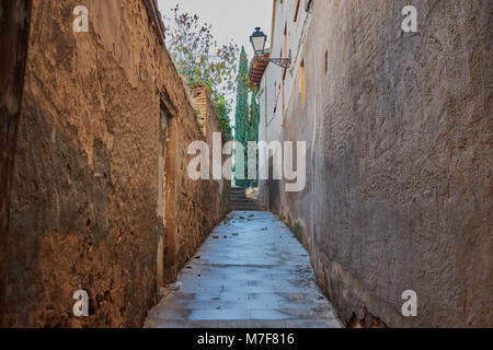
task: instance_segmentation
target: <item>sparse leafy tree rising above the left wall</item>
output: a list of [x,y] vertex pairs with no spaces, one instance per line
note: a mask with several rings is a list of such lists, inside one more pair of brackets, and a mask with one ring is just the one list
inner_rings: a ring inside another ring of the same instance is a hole
[[164,16],[167,47],[190,88],[208,86],[215,110],[228,140],[232,138],[229,114],[234,93],[238,46],[219,46],[210,33],[211,25],[200,23],[198,15],[181,12],[179,5]]

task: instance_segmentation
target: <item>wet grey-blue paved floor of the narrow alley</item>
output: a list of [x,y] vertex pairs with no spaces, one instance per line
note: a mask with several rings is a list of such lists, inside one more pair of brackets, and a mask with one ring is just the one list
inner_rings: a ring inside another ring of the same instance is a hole
[[339,328],[307,250],[270,212],[232,211],[148,315],[149,328]]

